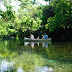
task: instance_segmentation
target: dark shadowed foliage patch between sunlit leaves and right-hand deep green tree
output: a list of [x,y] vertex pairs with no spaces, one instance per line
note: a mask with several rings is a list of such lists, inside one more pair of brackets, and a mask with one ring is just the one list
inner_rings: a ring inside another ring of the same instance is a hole
[[53,17],[54,16],[54,9],[52,6],[44,6],[42,9],[42,20],[43,20],[43,24],[45,25],[47,23],[47,19],[49,17]]

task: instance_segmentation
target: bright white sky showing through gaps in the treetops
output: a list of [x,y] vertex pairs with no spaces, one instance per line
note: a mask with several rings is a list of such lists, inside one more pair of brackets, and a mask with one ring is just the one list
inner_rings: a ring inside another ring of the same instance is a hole
[[[7,0],[7,2],[9,3],[8,0]],[[37,3],[37,5],[39,5],[39,4],[42,4],[42,5],[49,4],[49,2],[45,2],[44,0],[36,0],[36,3]],[[19,5],[20,5],[20,1],[11,0],[10,5],[12,5],[13,6],[13,10],[17,12],[17,9],[19,8]],[[4,6],[4,2],[3,1],[0,1],[0,8],[1,8],[1,10],[6,11],[6,8]]]

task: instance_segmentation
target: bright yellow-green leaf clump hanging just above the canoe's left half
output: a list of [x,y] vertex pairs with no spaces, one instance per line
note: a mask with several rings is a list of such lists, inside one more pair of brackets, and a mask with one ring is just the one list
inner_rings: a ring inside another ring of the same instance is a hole
[[24,16],[21,22],[21,26],[22,26],[21,29],[23,31],[27,31],[27,30],[35,31],[40,27],[40,23],[41,20],[39,18],[37,18],[37,21],[35,21],[33,18]]

